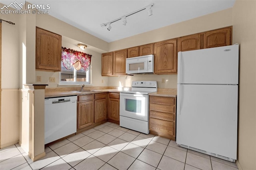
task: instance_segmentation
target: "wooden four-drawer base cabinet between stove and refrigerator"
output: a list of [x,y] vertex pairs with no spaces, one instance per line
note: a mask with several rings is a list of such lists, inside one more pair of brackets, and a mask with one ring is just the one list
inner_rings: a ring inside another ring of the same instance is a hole
[[176,97],[149,97],[151,134],[176,140]]

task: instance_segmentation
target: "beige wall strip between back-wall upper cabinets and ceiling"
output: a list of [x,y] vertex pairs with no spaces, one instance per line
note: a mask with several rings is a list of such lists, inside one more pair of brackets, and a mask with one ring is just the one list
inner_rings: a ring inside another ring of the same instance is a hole
[[226,26],[232,26],[232,8],[110,42],[109,51],[159,42]]

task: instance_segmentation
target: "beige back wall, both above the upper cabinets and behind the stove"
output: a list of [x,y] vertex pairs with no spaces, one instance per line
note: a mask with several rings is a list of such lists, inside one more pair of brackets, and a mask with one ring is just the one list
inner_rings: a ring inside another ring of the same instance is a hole
[[[168,40],[171,38],[178,38],[226,26],[232,26],[232,8],[111,42],[109,43],[109,49],[110,51],[115,51],[118,49]],[[165,83],[162,83],[162,79],[165,79]],[[109,77],[108,85],[115,87],[130,87],[132,81],[136,80],[155,80],[158,82],[158,88],[177,88],[177,75],[134,75],[127,77]]]

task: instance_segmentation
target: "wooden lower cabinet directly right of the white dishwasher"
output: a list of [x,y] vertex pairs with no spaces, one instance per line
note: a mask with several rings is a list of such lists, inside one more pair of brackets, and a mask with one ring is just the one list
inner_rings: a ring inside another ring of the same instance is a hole
[[77,128],[94,124],[94,94],[78,96]]

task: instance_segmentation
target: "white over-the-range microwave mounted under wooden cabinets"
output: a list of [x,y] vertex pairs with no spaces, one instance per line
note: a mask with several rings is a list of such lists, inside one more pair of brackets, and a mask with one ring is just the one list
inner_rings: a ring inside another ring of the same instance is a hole
[[154,55],[126,58],[126,74],[153,74]]

